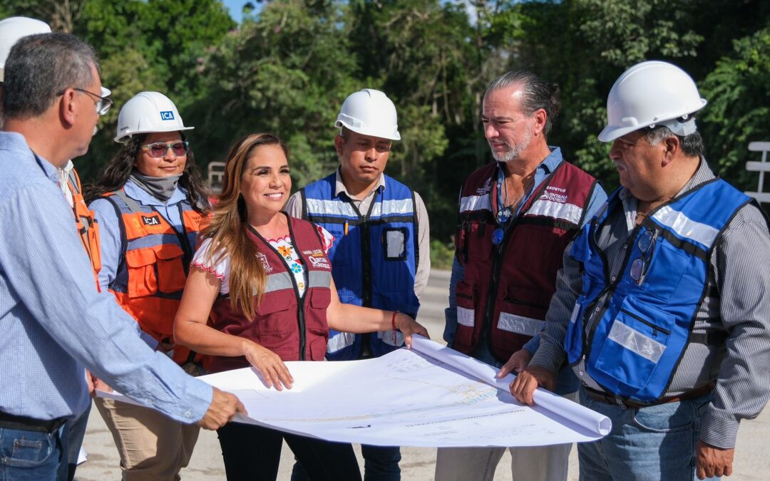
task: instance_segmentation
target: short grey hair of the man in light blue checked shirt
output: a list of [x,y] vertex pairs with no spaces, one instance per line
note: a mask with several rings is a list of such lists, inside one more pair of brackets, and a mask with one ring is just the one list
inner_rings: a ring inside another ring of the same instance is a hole
[[99,72],[96,52],[75,35],[44,33],[22,38],[5,61],[5,118],[37,117],[65,89],[89,88],[96,80],[92,66]]

